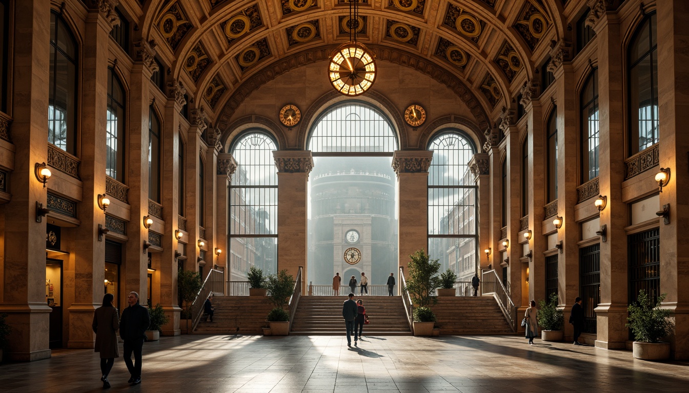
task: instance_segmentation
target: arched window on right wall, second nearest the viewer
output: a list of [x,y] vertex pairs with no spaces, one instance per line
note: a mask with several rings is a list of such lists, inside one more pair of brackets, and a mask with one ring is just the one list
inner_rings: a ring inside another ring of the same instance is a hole
[[598,176],[598,69],[593,70],[582,90],[582,182]]

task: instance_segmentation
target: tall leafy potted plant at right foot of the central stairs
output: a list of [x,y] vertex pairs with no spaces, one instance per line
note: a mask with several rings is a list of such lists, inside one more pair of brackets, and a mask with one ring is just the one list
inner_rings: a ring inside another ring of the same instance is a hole
[[409,257],[411,258],[407,266],[409,278],[404,290],[409,293],[412,303],[416,306],[413,312],[414,335],[431,336],[433,326],[435,326],[435,314],[428,306],[438,302],[431,293],[438,288],[440,263],[438,259],[430,259],[423,248]]

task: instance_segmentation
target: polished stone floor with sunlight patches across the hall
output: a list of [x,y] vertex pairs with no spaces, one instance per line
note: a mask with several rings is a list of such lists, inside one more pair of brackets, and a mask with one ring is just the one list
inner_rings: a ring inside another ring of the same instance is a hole
[[[121,346],[122,344],[120,344]],[[121,348],[120,348],[121,351]],[[122,353],[122,352],[120,352]],[[107,392],[688,392],[689,362],[654,363],[517,336],[163,337],[145,343],[143,383],[120,357]],[[0,392],[99,392],[92,350],[0,365]]]

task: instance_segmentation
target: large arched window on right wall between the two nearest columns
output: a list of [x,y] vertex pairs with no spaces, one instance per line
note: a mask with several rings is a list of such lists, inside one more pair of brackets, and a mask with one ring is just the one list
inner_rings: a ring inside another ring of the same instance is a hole
[[658,56],[655,12],[641,23],[629,46],[630,155],[659,141]]

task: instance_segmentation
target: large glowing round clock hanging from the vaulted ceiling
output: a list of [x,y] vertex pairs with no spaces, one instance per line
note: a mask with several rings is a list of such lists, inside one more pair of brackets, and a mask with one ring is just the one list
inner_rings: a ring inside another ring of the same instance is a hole
[[364,45],[345,43],[331,55],[328,76],[338,92],[358,96],[376,80],[376,61]]

